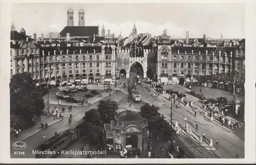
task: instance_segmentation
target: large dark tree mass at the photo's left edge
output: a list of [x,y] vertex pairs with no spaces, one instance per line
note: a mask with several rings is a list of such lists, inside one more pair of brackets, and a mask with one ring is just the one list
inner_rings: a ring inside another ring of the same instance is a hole
[[35,86],[30,73],[18,73],[10,81],[10,111],[31,120],[33,115],[41,115],[44,99]]

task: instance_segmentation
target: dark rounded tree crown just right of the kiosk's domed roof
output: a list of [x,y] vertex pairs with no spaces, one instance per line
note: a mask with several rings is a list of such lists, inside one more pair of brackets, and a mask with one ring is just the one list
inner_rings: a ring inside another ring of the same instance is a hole
[[144,119],[150,119],[152,117],[160,116],[160,108],[155,105],[145,103],[140,107],[139,115]]

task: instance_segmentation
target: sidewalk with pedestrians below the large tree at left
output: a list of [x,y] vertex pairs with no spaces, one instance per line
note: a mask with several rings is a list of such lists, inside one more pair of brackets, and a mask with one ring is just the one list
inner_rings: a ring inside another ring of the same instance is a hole
[[26,130],[22,130],[19,133],[19,136],[16,137],[15,135],[11,135],[11,137],[10,137],[11,144],[13,144],[14,142],[22,142],[25,139],[28,139],[30,136],[43,130],[40,127],[40,121],[42,121],[42,123],[44,123],[44,124],[47,122],[48,127],[50,127],[51,125],[56,124],[63,119],[53,119],[53,118],[48,118],[47,116],[42,116],[41,120],[40,119],[35,119],[35,120],[36,120],[35,125],[33,125],[32,127],[28,128]]

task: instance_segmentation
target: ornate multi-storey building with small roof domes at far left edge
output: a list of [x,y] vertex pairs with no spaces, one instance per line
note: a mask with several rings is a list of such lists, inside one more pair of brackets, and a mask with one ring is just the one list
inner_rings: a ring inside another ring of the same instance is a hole
[[32,39],[26,35],[24,28],[20,33],[11,26],[11,76],[16,73],[31,73],[33,79],[39,80],[40,76],[40,54],[36,45],[36,34]]

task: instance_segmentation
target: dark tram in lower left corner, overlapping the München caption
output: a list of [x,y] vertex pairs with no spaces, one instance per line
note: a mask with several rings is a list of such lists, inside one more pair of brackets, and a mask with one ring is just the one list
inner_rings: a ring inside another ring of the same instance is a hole
[[54,158],[79,137],[78,129],[56,134],[35,149],[35,158]]

